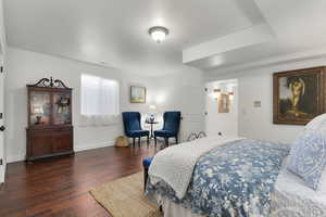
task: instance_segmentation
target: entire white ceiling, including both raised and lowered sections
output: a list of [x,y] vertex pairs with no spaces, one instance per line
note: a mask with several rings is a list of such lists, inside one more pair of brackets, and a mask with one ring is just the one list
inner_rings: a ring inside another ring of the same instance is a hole
[[[159,76],[326,44],[325,9],[325,0],[4,0],[4,21],[10,46]],[[171,31],[161,44],[147,33],[155,25]]]

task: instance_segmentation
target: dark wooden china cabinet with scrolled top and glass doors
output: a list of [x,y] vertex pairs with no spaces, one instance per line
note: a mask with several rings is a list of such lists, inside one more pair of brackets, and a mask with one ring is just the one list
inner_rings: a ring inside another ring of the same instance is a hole
[[26,161],[74,154],[72,88],[51,77],[27,85],[27,93]]

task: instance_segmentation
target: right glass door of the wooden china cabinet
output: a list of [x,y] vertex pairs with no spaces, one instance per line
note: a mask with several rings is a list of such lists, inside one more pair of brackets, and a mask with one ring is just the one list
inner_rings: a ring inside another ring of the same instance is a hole
[[70,93],[53,93],[53,125],[72,124],[71,101]]

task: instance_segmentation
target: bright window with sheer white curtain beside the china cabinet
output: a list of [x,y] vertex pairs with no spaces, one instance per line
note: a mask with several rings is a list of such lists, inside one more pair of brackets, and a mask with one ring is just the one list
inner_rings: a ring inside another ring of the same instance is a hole
[[82,115],[117,115],[118,82],[92,75],[82,75]]

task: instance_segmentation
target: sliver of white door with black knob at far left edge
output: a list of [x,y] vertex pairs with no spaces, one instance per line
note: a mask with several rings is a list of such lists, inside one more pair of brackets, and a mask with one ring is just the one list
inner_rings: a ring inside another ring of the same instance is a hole
[[0,183],[4,182],[4,74],[3,74],[3,61],[0,55]]

